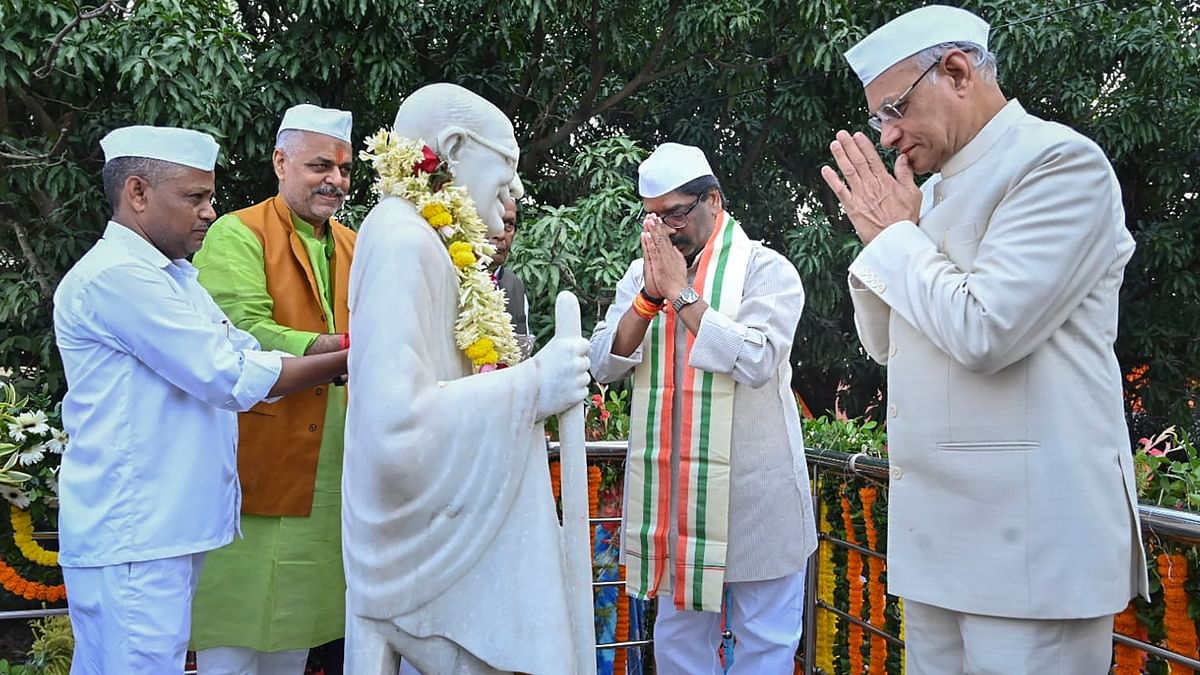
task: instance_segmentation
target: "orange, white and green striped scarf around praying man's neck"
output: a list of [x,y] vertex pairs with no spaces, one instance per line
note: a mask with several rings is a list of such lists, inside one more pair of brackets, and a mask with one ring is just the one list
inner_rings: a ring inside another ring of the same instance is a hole
[[[726,213],[700,256],[692,288],[713,307],[736,318],[750,263],[751,241]],[[638,598],[658,595],[672,574],[678,609],[720,611],[728,544],[730,448],[733,440],[733,378],[688,366],[696,336],[688,333],[676,354],[673,311],[660,312],[646,331],[642,363],[634,371],[628,483],[625,485],[625,589]],[[674,363],[682,359],[683,381]],[[680,392],[679,437],[672,414]],[[671,449],[679,448],[678,502],[671,503]],[[672,506],[677,508],[672,508]],[[677,519],[673,569],[667,569],[670,518]]]

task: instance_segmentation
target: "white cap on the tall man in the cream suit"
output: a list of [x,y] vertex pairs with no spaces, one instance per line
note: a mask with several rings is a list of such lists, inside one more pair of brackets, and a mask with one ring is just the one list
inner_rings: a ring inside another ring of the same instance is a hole
[[958,7],[929,5],[883,24],[846,52],[854,74],[866,86],[875,78],[922,49],[943,42],[974,42],[988,47],[988,22]]

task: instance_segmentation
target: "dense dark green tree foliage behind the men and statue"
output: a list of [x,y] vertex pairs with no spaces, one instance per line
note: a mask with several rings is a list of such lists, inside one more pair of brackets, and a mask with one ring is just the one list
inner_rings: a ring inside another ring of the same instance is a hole
[[[835,130],[865,129],[840,52],[919,4],[145,0],[55,41],[73,1],[0,0],[0,363],[44,369],[61,386],[49,294],[104,223],[106,130],[211,131],[224,145],[218,210],[230,210],[274,191],[266,157],[287,106],[353,109],[361,138],[404,92],[450,80],[515,120],[529,196],[514,257],[539,331],[560,288],[583,300],[586,327],[601,316],[636,256],[636,162],[659,142],[692,143],[751,235],[802,273],[797,388],[820,413],[845,382],[842,406],[862,412],[882,370],[858,347],[845,292],[857,239],[817,172]],[[1006,92],[1112,159],[1139,243],[1118,356],[1127,369],[1150,366],[1148,411],[1184,417],[1200,376],[1200,5],[966,6],[997,26]],[[370,205],[368,179],[365,167],[355,174],[350,221]]]

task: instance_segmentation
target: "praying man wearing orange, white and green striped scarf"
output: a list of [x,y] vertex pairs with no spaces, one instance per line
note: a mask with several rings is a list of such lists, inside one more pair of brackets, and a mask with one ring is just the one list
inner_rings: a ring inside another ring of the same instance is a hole
[[804,287],[725,209],[700,148],[638,167],[643,257],[592,336],[592,374],[634,374],[622,556],[626,591],[659,598],[655,671],[791,673],[816,549],[792,338]]

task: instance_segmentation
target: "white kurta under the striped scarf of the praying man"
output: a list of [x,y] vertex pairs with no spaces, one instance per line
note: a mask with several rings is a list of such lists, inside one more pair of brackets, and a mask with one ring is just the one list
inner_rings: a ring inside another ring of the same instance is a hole
[[[592,335],[592,375],[614,382],[642,363],[642,347],[629,357],[612,353],[620,317],[642,288],[642,259],[634,261],[617,283],[617,297]],[[700,324],[691,363],[683,362],[688,339],[676,323],[676,381],[685,368],[730,375],[733,390],[733,446],[730,456],[730,543],[726,581],[779,579],[804,569],[817,548],[812,496],[804,459],[800,416],[792,394],[788,356],[804,309],[800,275],[784,256],[755,245],[737,319],[709,307]],[[672,438],[678,444],[682,389],[676,390]],[[671,449],[672,503],[679,485],[679,448]],[[671,549],[676,542],[672,506]],[[668,552],[670,557],[674,551]],[[671,568],[671,565],[667,565]],[[660,591],[672,587],[666,575]]]

